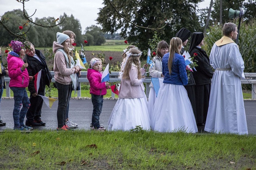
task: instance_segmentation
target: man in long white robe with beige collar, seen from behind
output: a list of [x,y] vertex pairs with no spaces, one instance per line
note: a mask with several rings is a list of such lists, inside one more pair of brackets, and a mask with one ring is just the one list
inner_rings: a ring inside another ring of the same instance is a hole
[[215,69],[204,130],[213,133],[248,134],[241,79],[244,79],[244,61],[233,40],[237,26],[225,23],[224,36],[215,42],[210,64]]

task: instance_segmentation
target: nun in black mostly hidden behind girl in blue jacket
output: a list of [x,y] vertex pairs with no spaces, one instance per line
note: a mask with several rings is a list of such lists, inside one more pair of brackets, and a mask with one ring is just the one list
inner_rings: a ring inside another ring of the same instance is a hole
[[[182,40],[182,48],[181,48],[181,55],[184,53],[184,46],[186,46],[188,38],[191,36],[191,32],[186,28],[180,29],[179,32],[175,34],[175,37],[179,37]],[[195,97],[195,80],[193,74],[189,75],[188,84],[185,85],[185,89],[187,90],[187,95],[190,100],[191,106],[193,108],[193,112],[196,118],[197,123],[197,115],[196,115],[196,97]]]

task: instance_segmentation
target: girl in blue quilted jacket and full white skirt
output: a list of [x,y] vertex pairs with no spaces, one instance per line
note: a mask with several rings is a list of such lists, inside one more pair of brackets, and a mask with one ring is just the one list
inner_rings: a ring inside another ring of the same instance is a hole
[[151,128],[154,131],[198,132],[193,109],[184,87],[188,83],[188,78],[185,60],[180,54],[181,48],[182,40],[173,37],[170,41],[170,52],[162,58],[162,74],[165,77],[152,110]]

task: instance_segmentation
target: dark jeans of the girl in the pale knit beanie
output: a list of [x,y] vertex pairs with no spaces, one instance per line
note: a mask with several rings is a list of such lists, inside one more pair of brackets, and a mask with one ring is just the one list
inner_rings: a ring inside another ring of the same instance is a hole
[[69,96],[72,89],[72,84],[64,85],[58,82],[55,82],[55,85],[58,89],[58,109],[57,109],[57,120],[58,128],[62,128],[66,124],[66,113],[69,103]]

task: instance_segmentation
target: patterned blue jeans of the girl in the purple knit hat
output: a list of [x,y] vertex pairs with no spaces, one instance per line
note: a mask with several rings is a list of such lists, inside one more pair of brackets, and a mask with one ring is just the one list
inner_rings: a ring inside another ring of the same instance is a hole
[[[14,96],[14,109],[13,109],[13,120],[14,128],[24,126],[24,118],[30,107],[28,100],[28,94],[26,88],[23,87],[10,87],[13,91]],[[21,109],[20,107],[23,106]]]

